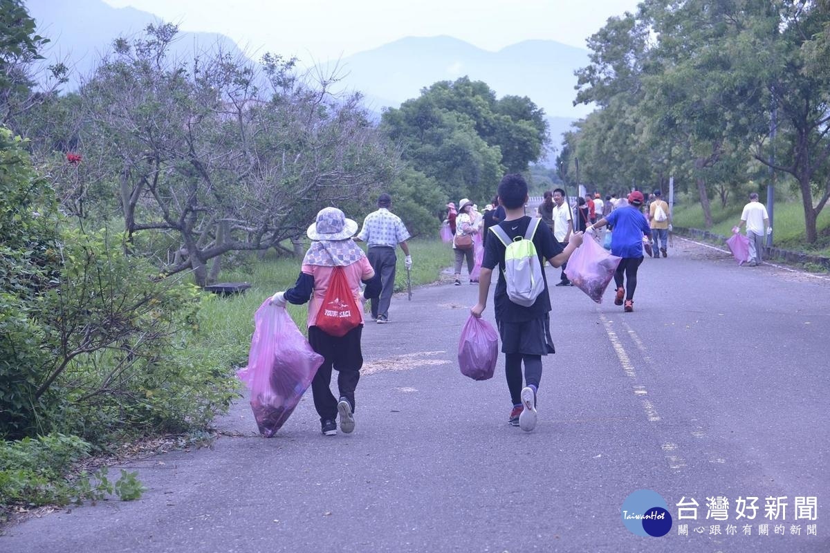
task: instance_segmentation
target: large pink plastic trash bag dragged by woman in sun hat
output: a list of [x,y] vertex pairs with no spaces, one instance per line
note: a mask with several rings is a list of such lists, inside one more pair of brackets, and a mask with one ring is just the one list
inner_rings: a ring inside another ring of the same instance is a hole
[[266,438],[286,423],[323,364],[286,309],[270,302],[256,310],[248,366],[237,371],[251,390],[251,409]]

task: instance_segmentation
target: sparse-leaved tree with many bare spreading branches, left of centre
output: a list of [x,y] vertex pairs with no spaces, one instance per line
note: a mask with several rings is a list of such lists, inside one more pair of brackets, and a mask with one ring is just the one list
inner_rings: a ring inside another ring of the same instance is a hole
[[129,239],[176,237],[159,252],[165,273],[207,284],[222,254],[279,247],[320,207],[388,181],[394,158],[359,96],[308,85],[278,56],[264,58],[264,75],[222,52],[170,59],[176,33],[151,26],[116,41],[81,91],[81,146],[101,160],[100,180],[118,175]]

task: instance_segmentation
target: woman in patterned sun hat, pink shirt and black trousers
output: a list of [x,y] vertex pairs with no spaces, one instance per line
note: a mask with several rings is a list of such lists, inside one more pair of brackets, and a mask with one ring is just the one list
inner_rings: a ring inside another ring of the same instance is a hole
[[[285,292],[277,292],[271,303],[285,307],[287,302],[302,304],[310,300],[308,313],[309,343],[315,352],[324,357],[323,364],[311,381],[314,405],[320,415],[323,434],[337,434],[337,415],[340,430],[349,434],[354,430],[354,390],[360,379],[363,366],[363,352],[360,337],[363,332],[363,310],[360,309],[360,324],[342,337],[331,336],[315,325],[320,305],[329,288],[334,269],[343,267],[344,274],[358,305],[364,298],[377,298],[380,294],[380,279],[375,277],[364,251],[352,240],[358,224],[344,216],[336,207],[325,207],[317,213],[316,221],[309,226],[306,235],[313,240],[305,252],[297,282]],[[360,293],[360,282],[366,284],[364,294]],[[364,297],[361,297],[361,296]],[[337,386],[339,400],[330,390],[331,370],[338,371]]]

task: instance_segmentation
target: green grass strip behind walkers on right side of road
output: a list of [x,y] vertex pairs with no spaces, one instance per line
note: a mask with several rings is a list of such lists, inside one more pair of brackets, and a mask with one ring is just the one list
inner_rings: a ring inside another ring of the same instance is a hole
[[[720,201],[711,204],[713,225],[706,229],[703,220],[703,208],[699,202],[689,201],[674,206],[673,223],[675,226],[709,230],[710,232],[730,236],[732,227],[740,221],[743,203],[733,203],[725,208]],[[774,245],[784,250],[802,251],[810,255],[830,257],[830,207],[818,215],[818,240],[808,244],[804,232],[804,211],[798,201],[776,201],[773,213]]]

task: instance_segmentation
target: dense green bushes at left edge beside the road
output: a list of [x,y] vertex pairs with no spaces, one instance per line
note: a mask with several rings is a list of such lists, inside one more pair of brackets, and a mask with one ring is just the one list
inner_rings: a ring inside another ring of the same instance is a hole
[[193,285],[68,225],[24,146],[0,129],[0,438],[207,424],[235,385],[188,352]]

